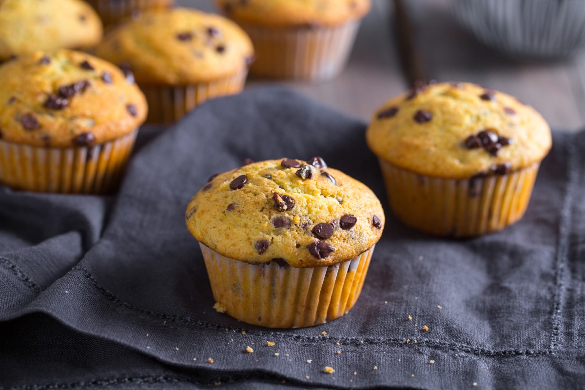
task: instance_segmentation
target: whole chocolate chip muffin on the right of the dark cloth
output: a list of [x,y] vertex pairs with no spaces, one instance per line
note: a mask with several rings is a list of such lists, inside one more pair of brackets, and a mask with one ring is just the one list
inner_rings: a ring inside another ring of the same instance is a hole
[[530,106],[474,84],[419,84],[374,114],[366,132],[395,215],[452,237],[522,218],[550,129]]

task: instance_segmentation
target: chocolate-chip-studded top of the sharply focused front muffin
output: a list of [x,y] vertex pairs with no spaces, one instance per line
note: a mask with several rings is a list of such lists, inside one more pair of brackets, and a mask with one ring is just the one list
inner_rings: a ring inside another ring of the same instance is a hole
[[361,182],[281,158],[214,175],[193,196],[187,227],[202,244],[250,264],[319,267],[351,260],[380,239],[384,211]]

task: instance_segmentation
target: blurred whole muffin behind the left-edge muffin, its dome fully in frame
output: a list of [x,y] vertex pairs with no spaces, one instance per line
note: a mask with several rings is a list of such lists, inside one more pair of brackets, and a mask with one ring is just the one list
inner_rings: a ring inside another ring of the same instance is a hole
[[209,98],[240,92],[254,50],[230,20],[176,8],[112,30],[96,53],[133,71],[149,102],[147,121],[160,123]]

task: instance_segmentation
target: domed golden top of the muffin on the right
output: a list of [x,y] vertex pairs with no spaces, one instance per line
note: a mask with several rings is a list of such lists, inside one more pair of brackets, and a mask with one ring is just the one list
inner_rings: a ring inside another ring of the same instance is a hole
[[535,109],[469,83],[416,85],[374,113],[366,139],[388,163],[453,179],[525,168],[552,146]]

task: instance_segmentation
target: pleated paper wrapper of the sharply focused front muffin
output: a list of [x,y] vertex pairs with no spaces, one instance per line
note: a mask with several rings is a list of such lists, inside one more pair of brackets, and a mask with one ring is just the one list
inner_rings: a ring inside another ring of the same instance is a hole
[[218,302],[243,322],[276,328],[324,324],[346,314],[362,291],[374,247],[329,267],[247,264],[199,243]]

